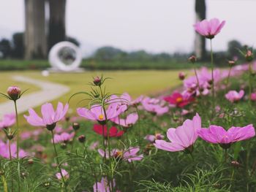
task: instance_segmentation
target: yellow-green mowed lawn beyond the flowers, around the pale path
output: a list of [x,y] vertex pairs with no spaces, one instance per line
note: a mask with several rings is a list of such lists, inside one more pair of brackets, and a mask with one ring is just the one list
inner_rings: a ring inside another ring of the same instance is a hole
[[[73,93],[78,91],[90,91],[89,82],[92,82],[93,77],[101,76],[110,77],[105,83],[106,90],[109,93],[121,94],[128,92],[133,98],[143,95],[156,96],[163,91],[167,91],[176,88],[181,85],[181,80],[178,80],[178,70],[166,70],[166,71],[107,71],[107,72],[83,72],[83,73],[51,73],[48,77],[43,77],[41,72],[24,71],[24,72],[1,72],[0,73],[0,91],[5,93],[7,87],[10,85],[18,85],[20,88],[29,88],[28,93],[38,91],[34,85],[26,83],[15,82],[12,80],[13,75],[21,75],[24,77],[31,77],[37,80],[45,80],[49,82],[57,82],[59,84],[67,85],[70,88],[69,93],[61,98],[52,101],[56,104],[57,101],[66,103],[69,97]],[[189,73],[189,71],[187,71]],[[37,98],[35,98],[37,99]],[[85,106],[86,103],[79,103],[81,99],[86,99],[86,95],[77,96],[69,103],[70,112],[75,112],[75,108],[78,106]],[[0,98],[0,102],[6,101],[4,98]],[[36,109],[39,110],[39,107]]]

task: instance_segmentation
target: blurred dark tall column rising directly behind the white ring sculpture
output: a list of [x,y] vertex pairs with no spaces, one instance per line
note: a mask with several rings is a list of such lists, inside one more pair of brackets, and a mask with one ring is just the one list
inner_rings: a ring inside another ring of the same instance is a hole
[[66,39],[66,0],[49,0],[48,50]]

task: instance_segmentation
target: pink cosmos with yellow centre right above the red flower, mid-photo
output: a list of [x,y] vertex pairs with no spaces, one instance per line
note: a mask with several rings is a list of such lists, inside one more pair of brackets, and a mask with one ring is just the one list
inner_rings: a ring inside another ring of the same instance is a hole
[[[106,115],[108,120],[112,118],[116,118],[120,112],[117,110],[117,104],[110,104],[108,109],[106,110]],[[88,120],[97,120],[99,123],[104,123],[106,118],[101,105],[93,105],[91,106],[90,110],[86,108],[78,108],[77,109],[78,115]]]

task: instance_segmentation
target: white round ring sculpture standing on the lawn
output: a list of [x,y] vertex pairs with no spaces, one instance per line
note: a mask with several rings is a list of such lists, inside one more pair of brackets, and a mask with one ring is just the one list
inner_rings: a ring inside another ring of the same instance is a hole
[[54,70],[72,72],[82,61],[79,47],[72,42],[59,42],[50,49],[49,62]]

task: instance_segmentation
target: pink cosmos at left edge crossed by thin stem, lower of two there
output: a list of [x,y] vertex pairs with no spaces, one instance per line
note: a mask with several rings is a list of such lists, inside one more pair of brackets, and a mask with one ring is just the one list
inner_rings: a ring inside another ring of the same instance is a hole
[[[17,158],[17,145],[16,143],[11,144],[11,155],[12,158]],[[19,150],[19,158],[23,158],[28,155],[23,149]],[[3,158],[10,158],[9,143],[2,142],[0,140],[0,156]]]

